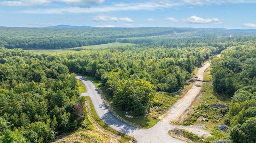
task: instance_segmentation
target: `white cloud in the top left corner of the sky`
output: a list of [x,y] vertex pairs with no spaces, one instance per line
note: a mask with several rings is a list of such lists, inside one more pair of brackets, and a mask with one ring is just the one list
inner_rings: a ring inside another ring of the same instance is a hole
[[3,1],[2,6],[37,6],[50,4],[51,0],[20,0],[20,1]]

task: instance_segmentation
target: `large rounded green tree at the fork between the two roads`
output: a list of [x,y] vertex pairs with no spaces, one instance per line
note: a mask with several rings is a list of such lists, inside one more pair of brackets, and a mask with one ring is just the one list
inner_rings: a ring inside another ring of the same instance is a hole
[[114,93],[114,102],[122,110],[133,110],[136,116],[144,115],[150,108],[154,88],[146,80],[125,80]]

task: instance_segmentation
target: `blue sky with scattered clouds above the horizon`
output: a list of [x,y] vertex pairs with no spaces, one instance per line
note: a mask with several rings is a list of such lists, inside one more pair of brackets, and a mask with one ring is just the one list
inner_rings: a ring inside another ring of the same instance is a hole
[[0,0],[0,26],[256,29],[256,0]]

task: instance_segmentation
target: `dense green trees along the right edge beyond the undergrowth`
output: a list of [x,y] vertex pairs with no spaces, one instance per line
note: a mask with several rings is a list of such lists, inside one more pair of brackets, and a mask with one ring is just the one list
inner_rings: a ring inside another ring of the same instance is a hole
[[240,41],[212,60],[214,90],[232,97],[225,123],[233,143],[256,142],[256,41]]

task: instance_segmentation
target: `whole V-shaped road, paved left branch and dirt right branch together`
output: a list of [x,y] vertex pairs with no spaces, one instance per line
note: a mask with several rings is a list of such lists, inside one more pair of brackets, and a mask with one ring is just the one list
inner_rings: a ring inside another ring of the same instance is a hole
[[[198,76],[200,80],[202,80],[205,69],[207,69],[209,66],[210,63],[204,65],[198,70],[196,76]],[[102,101],[95,85],[90,80],[83,78],[82,76],[77,76],[76,78],[81,80],[85,84],[87,89],[87,92],[81,94],[81,96],[90,96],[96,113],[98,114],[100,119],[102,119],[102,121],[104,121],[107,125],[115,129],[116,131],[119,131],[126,135],[130,135],[131,137],[134,136],[138,143],[186,143],[185,141],[170,137],[170,135],[168,134],[169,130],[184,128],[178,125],[171,125],[170,121],[176,121],[177,119],[179,119],[180,116],[182,116],[182,114],[190,107],[190,105],[201,90],[201,87],[196,86],[196,84],[202,84],[202,82],[194,82],[192,88],[188,90],[183,98],[178,100],[174,104],[174,106],[172,106],[168,110],[168,112],[165,114],[165,116],[163,116],[161,121],[156,123],[154,127],[150,129],[138,129],[116,119],[109,112],[108,108]]]

